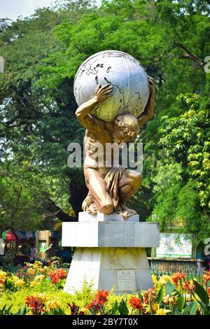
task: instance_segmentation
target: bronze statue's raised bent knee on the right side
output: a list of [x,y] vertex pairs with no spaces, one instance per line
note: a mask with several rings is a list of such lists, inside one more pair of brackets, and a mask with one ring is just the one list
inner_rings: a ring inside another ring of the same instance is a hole
[[141,186],[142,176],[139,172],[126,169],[119,181],[120,202],[125,202],[137,192]]

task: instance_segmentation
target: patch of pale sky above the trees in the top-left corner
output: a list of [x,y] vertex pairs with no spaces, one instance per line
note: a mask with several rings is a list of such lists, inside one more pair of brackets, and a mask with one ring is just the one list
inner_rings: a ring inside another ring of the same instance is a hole
[[55,0],[0,0],[0,18],[16,20],[18,16],[29,16],[34,9],[48,7]]

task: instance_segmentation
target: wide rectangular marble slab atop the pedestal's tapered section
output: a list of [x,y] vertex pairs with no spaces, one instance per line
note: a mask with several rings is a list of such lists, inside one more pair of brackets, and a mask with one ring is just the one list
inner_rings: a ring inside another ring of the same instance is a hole
[[62,246],[148,247],[159,246],[157,223],[62,223]]

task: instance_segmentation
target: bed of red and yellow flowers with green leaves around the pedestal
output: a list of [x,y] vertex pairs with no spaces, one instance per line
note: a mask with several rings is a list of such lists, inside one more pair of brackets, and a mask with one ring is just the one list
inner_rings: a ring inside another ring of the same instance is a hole
[[63,292],[66,271],[53,264],[27,264],[16,274],[0,270],[0,314],[28,315],[209,315],[210,272],[202,286],[186,274],[153,275],[154,286],[141,293],[117,296],[113,291],[94,291],[84,282],[73,295]]

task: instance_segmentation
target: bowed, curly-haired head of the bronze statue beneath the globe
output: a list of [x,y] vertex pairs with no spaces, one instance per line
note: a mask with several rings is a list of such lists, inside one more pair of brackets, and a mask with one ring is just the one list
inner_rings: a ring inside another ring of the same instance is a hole
[[113,141],[116,143],[127,143],[134,141],[139,134],[139,124],[137,118],[131,114],[121,114],[116,116],[113,130]]

